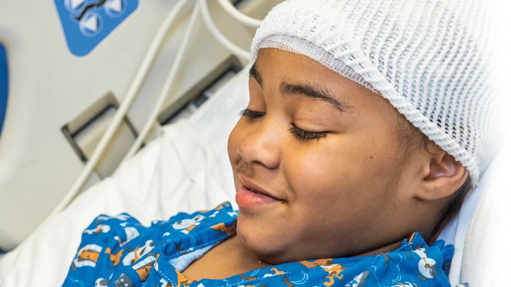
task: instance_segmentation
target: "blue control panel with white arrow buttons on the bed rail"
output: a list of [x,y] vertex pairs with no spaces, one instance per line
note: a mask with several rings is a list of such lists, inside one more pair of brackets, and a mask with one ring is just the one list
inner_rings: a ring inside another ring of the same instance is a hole
[[138,7],[138,0],[55,0],[69,51],[90,53]]

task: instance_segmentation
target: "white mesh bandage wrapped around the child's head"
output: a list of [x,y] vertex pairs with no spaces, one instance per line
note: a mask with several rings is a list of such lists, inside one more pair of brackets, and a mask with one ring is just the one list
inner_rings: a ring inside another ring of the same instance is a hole
[[287,0],[264,19],[251,60],[288,50],[378,92],[477,183],[495,133],[480,2]]

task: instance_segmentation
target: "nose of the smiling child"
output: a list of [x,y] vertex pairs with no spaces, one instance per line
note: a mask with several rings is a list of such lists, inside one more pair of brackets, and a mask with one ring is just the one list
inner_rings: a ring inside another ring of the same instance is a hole
[[244,129],[244,137],[237,147],[245,162],[260,163],[267,169],[276,169],[281,160],[283,133],[278,124],[265,117]]

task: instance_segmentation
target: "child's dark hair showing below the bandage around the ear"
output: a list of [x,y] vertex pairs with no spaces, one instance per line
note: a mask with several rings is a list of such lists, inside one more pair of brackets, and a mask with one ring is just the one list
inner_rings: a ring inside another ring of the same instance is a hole
[[[400,116],[400,120],[398,122],[398,134],[400,136],[400,141],[406,147],[403,155],[403,161],[410,157],[411,151],[413,148],[417,148],[417,146],[432,154],[432,152],[428,149],[430,139],[424,133],[415,128],[404,118],[404,116]],[[440,211],[438,220],[431,232],[429,234],[423,234],[427,242],[431,243],[434,241],[436,237],[438,237],[439,233],[459,212],[461,205],[463,204],[463,200],[470,190],[471,182],[472,180],[470,176],[467,177],[465,182],[450,196],[451,201],[444,207],[444,209],[442,209],[442,211]]]

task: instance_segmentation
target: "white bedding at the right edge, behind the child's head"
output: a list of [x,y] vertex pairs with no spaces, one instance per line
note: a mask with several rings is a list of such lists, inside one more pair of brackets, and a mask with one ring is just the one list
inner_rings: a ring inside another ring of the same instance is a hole
[[511,286],[511,134],[493,162],[493,170],[465,237],[459,277],[470,286]]

